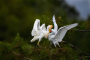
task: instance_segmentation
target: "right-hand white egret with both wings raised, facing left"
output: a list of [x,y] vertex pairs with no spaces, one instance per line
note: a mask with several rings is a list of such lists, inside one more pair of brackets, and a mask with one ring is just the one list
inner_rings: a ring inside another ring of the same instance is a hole
[[66,32],[69,29],[74,28],[78,25],[78,23],[74,23],[71,25],[63,26],[58,29],[58,25],[56,24],[54,15],[53,15],[53,23],[54,23],[54,29],[52,29],[52,32],[49,34],[48,39],[49,39],[49,41],[51,41],[51,43],[54,44],[55,47],[56,47],[56,45],[58,45],[60,47],[59,42],[62,41]]

